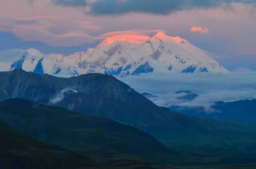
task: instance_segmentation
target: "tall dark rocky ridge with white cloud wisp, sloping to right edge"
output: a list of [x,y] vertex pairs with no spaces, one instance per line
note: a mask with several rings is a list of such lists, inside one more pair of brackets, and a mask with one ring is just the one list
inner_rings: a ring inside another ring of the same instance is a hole
[[[60,78],[15,70],[0,74],[0,100],[20,97],[138,128],[170,147],[255,149],[256,124],[189,117],[159,107],[111,75]],[[254,148],[253,148],[254,147]]]

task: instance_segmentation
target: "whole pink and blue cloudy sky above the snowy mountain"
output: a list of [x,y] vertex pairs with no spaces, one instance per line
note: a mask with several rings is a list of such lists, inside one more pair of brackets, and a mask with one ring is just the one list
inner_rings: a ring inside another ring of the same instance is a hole
[[69,55],[111,35],[163,31],[248,72],[256,70],[255,28],[256,0],[0,0],[0,50]]

